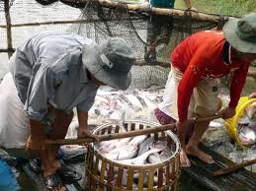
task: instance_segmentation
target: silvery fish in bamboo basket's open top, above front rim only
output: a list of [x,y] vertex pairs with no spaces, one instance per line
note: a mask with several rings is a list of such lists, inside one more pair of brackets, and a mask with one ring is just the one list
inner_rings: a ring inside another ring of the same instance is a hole
[[146,135],[101,142],[95,149],[105,158],[124,164],[158,163],[172,156],[166,141],[155,141]]

